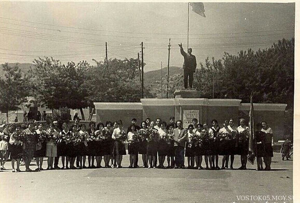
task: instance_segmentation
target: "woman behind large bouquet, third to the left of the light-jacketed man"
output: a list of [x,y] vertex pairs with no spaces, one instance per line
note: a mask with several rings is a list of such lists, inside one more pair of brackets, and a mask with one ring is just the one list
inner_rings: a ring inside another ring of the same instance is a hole
[[[154,128],[154,121],[151,121],[149,126],[149,132],[150,131],[157,131]],[[158,132],[157,132],[158,134]],[[150,135],[149,135],[150,136]],[[156,168],[156,157],[157,157],[157,151],[158,151],[158,140],[150,140],[147,138],[148,144],[147,144],[147,155],[149,160],[148,168]]]

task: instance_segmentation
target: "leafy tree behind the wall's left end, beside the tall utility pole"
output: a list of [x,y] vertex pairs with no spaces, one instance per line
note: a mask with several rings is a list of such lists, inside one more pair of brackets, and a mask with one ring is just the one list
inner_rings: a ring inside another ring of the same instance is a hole
[[[138,80],[138,61],[130,58],[125,60],[110,59],[108,67],[103,61],[94,60],[97,65],[88,71],[85,90],[90,101],[102,102],[139,102],[141,85]],[[149,88],[145,88],[144,96],[154,97]]]

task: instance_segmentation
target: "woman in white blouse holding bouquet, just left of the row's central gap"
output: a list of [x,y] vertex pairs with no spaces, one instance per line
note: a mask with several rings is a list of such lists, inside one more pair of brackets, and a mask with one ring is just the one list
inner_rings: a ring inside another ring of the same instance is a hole
[[[122,120],[119,120],[118,122],[114,122],[114,131],[112,138],[115,140],[114,148],[113,148],[113,154],[114,154],[114,160],[115,164],[117,165],[117,168],[122,168],[122,159],[123,155],[126,155],[126,149],[124,141],[126,139],[125,130],[122,125]],[[125,134],[125,137],[123,137],[123,134]]]

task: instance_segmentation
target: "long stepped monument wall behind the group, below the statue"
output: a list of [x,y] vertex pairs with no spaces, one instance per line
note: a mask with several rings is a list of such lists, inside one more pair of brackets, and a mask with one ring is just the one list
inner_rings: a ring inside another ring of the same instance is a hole
[[[240,99],[205,99],[205,98],[175,98],[175,99],[141,99],[141,103],[107,103],[95,102],[96,121],[106,122],[122,119],[125,127],[136,118],[140,124],[149,117],[155,120],[160,117],[169,122],[171,116],[182,120],[184,127],[197,118],[200,123],[208,123],[217,119],[221,126],[225,120],[232,118],[238,126],[240,118],[249,120],[250,104],[241,103]],[[284,111],[286,104],[253,104],[254,122],[266,121],[274,131],[274,141],[284,137]]]

